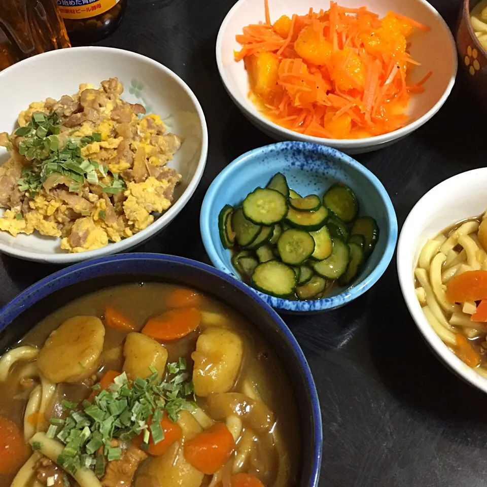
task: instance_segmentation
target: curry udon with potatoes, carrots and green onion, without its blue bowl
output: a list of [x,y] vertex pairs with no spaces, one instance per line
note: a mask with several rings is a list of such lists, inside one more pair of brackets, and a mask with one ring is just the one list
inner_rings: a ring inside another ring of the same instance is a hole
[[291,487],[295,398],[256,330],[146,283],[81,297],[0,358],[0,487]]

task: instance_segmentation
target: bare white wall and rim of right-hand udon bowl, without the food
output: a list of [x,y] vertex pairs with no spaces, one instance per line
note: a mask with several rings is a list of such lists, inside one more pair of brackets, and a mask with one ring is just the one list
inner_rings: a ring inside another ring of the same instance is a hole
[[429,324],[415,293],[414,269],[426,241],[466,219],[482,215],[487,168],[462,172],[428,191],[412,208],[402,227],[397,248],[397,271],[401,291],[411,317],[435,352],[451,370],[487,393],[487,378],[460,360]]

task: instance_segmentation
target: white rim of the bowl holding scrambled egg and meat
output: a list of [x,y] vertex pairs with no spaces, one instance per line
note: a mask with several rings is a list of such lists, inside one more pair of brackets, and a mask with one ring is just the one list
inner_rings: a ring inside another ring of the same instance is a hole
[[191,179],[184,193],[179,197],[176,203],[174,203],[163,215],[161,215],[156,221],[154,221],[154,223],[149,225],[144,230],[134,234],[131,237],[125,238],[119,242],[110,243],[108,246],[102,247],[101,249],[90,250],[78,254],[34,253],[22,249],[17,249],[15,247],[11,247],[9,245],[6,245],[5,243],[0,242],[0,252],[12,255],[14,257],[18,257],[20,259],[34,260],[38,262],[49,262],[53,264],[68,264],[73,262],[79,262],[81,260],[94,259],[96,257],[102,257],[108,254],[121,253],[129,248],[140,245],[144,240],[148,239],[149,237],[157,233],[161,228],[168,225],[173,220],[173,218],[175,218],[178,215],[178,213],[182,210],[182,208],[189,201],[194,191],[196,190],[196,187],[198,186],[201,177],[203,175],[204,166],[206,164],[206,157],[208,153],[208,130],[206,127],[206,121],[204,118],[203,110],[201,108],[198,99],[196,98],[195,94],[191,91],[189,86],[176,73],[173,73],[168,67],[164,66],[163,64],[147,56],[143,56],[142,54],[137,54],[132,51],[126,51],[124,49],[116,49],[112,47],[101,47],[101,46],[72,47],[72,48],[67,48],[62,50],[49,51],[49,52],[45,52],[24,59],[4,69],[4,71],[0,72],[0,79],[2,78],[2,76],[5,76],[5,74],[10,75],[11,73],[15,74],[16,72],[18,72],[18,76],[20,76],[23,67],[28,65],[32,61],[32,59],[36,59],[36,58],[39,59],[39,56],[43,56],[44,58],[50,58],[50,57],[59,56],[59,53],[64,54],[66,52],[73,52],[73,51],[102,52],[107,56],[110,56],[111,54],[114,53],[123,53],[128,57],[137,58],[148,64],[152,64],[153,66],[157,67],[162,72],[164,72],[168,77],[175,80],[177,84],[183,88],[185,93],[191,99],[195,107],[195,110],[197,112],[198,118],[201,122],[201,155],[199,157],[198,164],[196,166],[196,170],[194,172],[193,178]]

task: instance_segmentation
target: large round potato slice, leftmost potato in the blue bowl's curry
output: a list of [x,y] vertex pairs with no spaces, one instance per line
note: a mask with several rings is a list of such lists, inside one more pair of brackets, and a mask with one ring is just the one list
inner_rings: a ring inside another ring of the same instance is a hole
[[98,367],[104,338],[105,327],[96,316],[69,318],[39,352],[39,370],[51,382],[80,382]]

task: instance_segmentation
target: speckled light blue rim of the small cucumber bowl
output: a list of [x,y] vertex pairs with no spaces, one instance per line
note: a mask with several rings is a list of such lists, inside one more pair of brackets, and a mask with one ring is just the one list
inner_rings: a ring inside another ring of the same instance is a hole
[[[212,205],[214,204],[214,195],[218,193],[219,188],[225,184],[228,175],[232,173],[232,171],[237,166],[245,166],[247,161],[256,156],[259,153],[269,153],[272,151],[279,151],[281,148],[287,147],[289,144],[299,145],[303,149],[312,150],[322,154],[324,157],[330,157],[333,159],[337,159],[343,164],[352,166],[356,171],[362,173],[374,186],[375,190],[377,191],[382,203],[384,204],[388,219],[389,219],[389,232],[388,232],[388,241],[386,248],[384,249],[384,254],[380,257],[379,262],[373,268],[373,270],[366,275],[361,281],[359,281],[356,285],[343,290],[340,294],[330,297],[323,297],[317,300],[310,300],[310,301],[292,301],[290,299],[284,298],[277,298],[275,296],[271,296],[269,294],[262,293],[257,289],[254,289],[251,286],[248,286],[252,289],[253,292],[258,294],[266,303],[270,304],[272,307],[276,309],[283,309],[287,311],[295,311],[296,303],[309,303],[310,312],[321,311],[324,309],[333,309],[343,304],[346,304],[354,299],[358,298],[366,291],[368,291],[384,274],[387,267],[389,266],[391,259],[394,255],[394,249],[396,248],[396,241],[397,241],[397,218],[396,212],[394,211],[394,205],[392,204],[391,198],[389,197],[386,188],[382,185],[382,183],[377,179],[377,177],[369,171],[364,165],[360,164],[360,162],[356,161],[350,156],[343,154],[342,152],[333,149],[332,147],[324,146],[321,144],[312,144],[310,142],[277,142],[275,144],[270,144],[268,146],[259,147],[257,149],[250,150],[245,154],[237,157],[233,160],[230,164],[228,164],[223,171],[213,180],[213,183],[210,185],[208,190],[206,191],[206,195],[203,199],[203,204],[201,206],[201,214],[200,214],[200,228],[201,228],[201,237],[203,239],[203,245],[206,250],[206,253],[210,257],[210,260],[213,262],[213,265],[218,269],[226,272],[227,274],[234,277],[234,272],[229,269],[225,262],[222,261],[218,252],[215,250],[213,246],[212,239],[210,237],[210,229],[209,226],[212,224],[210,221],[210,213]],[[380,238],[380,237],[379,237]],[[221,244],[220,244],[221,245]],[[244,283],[245,284],[245,283]]]

